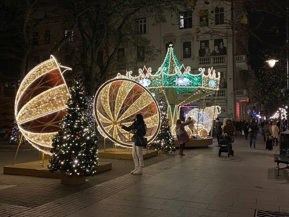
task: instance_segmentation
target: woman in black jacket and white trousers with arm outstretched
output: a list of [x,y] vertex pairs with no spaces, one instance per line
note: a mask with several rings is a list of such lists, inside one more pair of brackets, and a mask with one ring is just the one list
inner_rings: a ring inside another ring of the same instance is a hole
[[[120,123],[120,127],[128,132],[133,131],[134,134],[140,138],[143,138],[147,132],[147,126],[144,123],[144,118],[142,117],[141,114],[135,115],[135,122],[129,127],[123,126],[121,123]],[[136,175],[142,174],[142,168],[144,166],[144,158],[142,156],[142,149],[144,146],[147,146],[147,144],[144,144],[144,143],[140,144],[139,142],[135,142],[132,145],[132,158],[133,158],[133,161],[135,162],[135,169],[131,171],[131,173],[133,174],[136,174]]]

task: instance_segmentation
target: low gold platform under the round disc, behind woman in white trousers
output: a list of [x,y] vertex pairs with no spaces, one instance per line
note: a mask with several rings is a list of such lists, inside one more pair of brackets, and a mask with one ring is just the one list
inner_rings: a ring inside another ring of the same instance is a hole
[[[142,156],[144,159],[153,157],[158,155],[158,152],[155,150],[143,150],[142,151]],[[126,160],[132,160],[132,150],[131,149],[105,149],[105,151],[99,150],[98,151],[98,156],[99,158],[110,158],[110,159],[126,159]]]

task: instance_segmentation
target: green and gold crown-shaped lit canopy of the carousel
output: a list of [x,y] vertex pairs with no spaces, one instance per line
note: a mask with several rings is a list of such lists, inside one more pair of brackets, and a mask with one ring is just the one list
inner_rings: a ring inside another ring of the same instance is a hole
[[[117,78],[128,78],[144,85],[151,93],[164,94],[167,104],[181,105],[178,94],[192,95],[200,89],[202,93],[219,89],[220,73],[212,68],[199,68],[199,74],[191,74],[191,67],[179,64],[174,54],[173,43],[169,43],[166,58],[155,74],[151,74],[151,68],[139,69],[138,76],[132,76],[132,71],[126,75],[117,74]],[[217,77],[216,77],[217,76]]]

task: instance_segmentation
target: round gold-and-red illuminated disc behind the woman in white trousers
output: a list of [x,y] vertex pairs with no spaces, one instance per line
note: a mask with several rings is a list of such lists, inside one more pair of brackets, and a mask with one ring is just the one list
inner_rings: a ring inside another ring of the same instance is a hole
[[131,148],[132,134],[119,124],[130,126],[136,114],[144,117],[150,143],[160,130],[160,109],[156,99],[139,83],[117,78],[104,83],[95,95],[94,113],[98,127],[114,143]]

